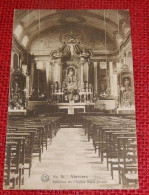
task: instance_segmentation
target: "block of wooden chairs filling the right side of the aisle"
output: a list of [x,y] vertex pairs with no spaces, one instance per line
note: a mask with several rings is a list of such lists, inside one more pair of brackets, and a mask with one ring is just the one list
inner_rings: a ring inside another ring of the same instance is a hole
[[118,173],[123,188],[138,186],[137,138],[135,120],[115,116],[83,116],[85,135],[92,140],[107,171]]

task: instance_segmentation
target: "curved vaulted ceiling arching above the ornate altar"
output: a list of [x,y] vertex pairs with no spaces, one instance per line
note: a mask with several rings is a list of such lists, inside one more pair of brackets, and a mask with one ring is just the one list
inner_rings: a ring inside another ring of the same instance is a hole
[[130,35],[128,10],[15,10],[14,36],[31,53],[48,54],[73,32],[96,52],[115,52]]

